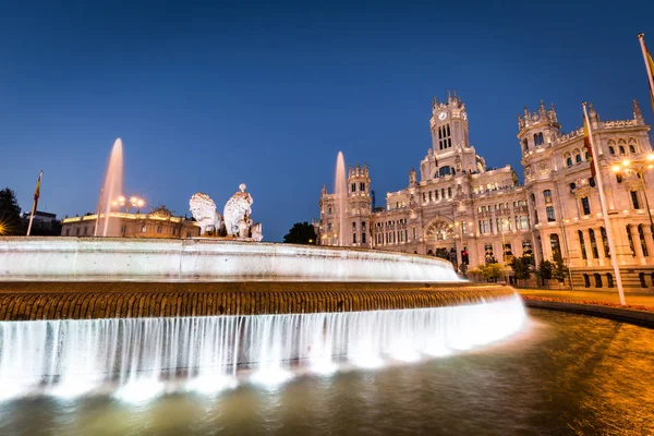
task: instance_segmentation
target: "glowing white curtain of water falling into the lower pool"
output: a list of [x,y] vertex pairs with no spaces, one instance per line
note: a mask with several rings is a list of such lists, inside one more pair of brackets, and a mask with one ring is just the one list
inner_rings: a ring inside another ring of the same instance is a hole
[[0,323],[0,398],[31,391],[74,397],[118,385],[142,400],[183,384],[217,391],[252,379],[275,383],[291,370],[439,356],[493,342],[525,318],[518,295],[460,306],[251,316],[109,318]]

